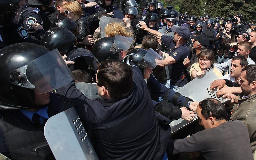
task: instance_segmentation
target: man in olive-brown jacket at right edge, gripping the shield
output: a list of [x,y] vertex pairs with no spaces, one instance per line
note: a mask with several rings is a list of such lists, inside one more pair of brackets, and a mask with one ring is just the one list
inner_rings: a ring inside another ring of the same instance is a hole
[[236,96],[227,93],[226,96],[234,102],[234,108],[231,112],[230,120],[242,121],[249,132],[252,153],[255,152],[256,146],[256,65],[246,66],[241,73],[242,92]]

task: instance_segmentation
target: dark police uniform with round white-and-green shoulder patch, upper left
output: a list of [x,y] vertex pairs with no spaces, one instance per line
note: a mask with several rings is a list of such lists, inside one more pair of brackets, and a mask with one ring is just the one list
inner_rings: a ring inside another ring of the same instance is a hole
[[46,16],[44,10],[40,6],[36,6],[35,8],[25,8],[20,15],[20,21],[23,23],[24,28],[28,31],[31,37],[36,39],[37,41],[38,39],[35,37],[36,31],[30,24],[38,23],[44,28],[44,31],[49,30],[51,26],[49,18]]

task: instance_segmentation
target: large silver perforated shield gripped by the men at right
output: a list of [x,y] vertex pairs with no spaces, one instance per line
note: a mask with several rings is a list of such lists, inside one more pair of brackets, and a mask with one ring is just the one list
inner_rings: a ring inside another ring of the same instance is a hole
[[[219,100],[221,103],[226,103],[227,99],[222,97],[217,97],[216,91],[217,88],[214,90],[210,90],[209,87],[211,86],[211,82],[218,79],[213,71],[206,71],[203,77],[197,77],[190,81],[189,83],[185,84],[182,88],[178,89],[177,92],[181,93],[181,95],[185,97],[189,97],[194,101],[200,102],[206,98],[215,98]],[[172,121],[170,124],[172,128],[172,134],[181,130],[182,128],[186,127],[187,125],[193,123],[198,118],[195,117],[193,121],[187,121],[183,119],[178,119]]]

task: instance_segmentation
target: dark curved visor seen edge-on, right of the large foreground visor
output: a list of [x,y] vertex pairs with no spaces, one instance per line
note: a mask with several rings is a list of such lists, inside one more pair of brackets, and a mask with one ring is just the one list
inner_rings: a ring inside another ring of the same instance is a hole
[[68,53],[68,56],[67,56],[67,60],[68,60],[68,61],[72,61],[72,60],[75,59],[75,58],[84,57],[84,56],[92,57],[92,58],[94,58],[97,62],[99,62],[99,60],[92,54],[92,52],[90,52],[89,50],[84,49],[84,48],[74,49],[74,50],[72,50],[71,52],[69,52],[69,53]]

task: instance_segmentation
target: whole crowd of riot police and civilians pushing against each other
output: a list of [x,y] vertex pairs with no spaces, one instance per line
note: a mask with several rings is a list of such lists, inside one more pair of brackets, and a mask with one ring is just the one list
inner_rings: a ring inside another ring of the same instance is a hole
[[[99,159],[253,159],[256,25],[156,0],[142,13],[135,0],[113,3],[0,1],[0,157],[55,159],[44,126],[74,107]],[[178,92],[207,72],[225,103]],[[199,123],[172,135],[180,118]]]

